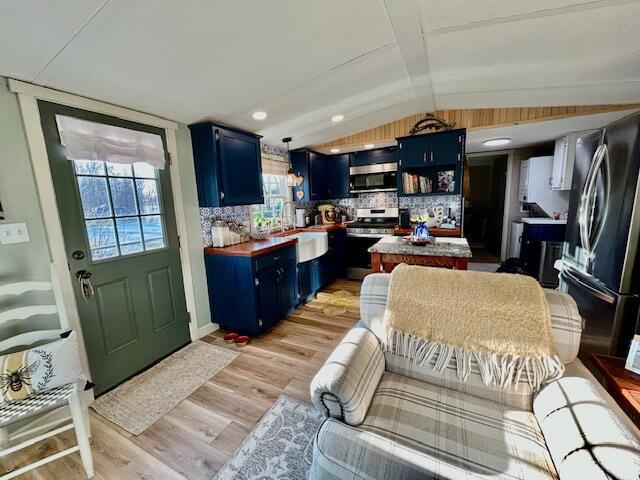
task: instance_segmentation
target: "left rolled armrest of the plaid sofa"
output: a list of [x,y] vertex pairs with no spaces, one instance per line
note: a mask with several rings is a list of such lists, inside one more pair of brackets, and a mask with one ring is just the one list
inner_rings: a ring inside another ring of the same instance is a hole
[[356,326],[311,381],[311,400],[327,417],[359,425],[383,372],[384,355],[377,337]]

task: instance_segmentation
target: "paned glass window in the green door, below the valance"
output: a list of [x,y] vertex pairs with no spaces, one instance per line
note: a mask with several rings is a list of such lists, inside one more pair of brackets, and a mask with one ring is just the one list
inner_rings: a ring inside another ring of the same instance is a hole
[[157,169],[92,160],[73,165],[92,260],[167,246]]

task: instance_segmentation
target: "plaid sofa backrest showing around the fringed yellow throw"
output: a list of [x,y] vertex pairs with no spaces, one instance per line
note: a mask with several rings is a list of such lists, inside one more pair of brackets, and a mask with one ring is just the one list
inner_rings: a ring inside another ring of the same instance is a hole
[[[361,321],[381,341],[386,339],[382,320],[387,304],[390,278],[391,276],[388,273],[367,275],[362,283],[360,292]],[[558,356],[564,363],[572,362],[578,353],[582,332],[582,318],[578,308],[573,299],[566,293],[549,289],[544,289],[544,293],[549,305],[552,333],[558,349]],[[520,378],[518,382],[508,387],[485,385],[480,376],[477,363],[472,360],[471,375],[469,375],[466,382],[463,382],[458,378],[456,358],[452,358],[447,368],[442,372],[431,368],[437,360],[438,355],[435,355],[430,365],[416,365],[410,360],[385,352],[387,371],[456,389],[510,407],[531,410],[534,391],[527,382],[526,377]]]

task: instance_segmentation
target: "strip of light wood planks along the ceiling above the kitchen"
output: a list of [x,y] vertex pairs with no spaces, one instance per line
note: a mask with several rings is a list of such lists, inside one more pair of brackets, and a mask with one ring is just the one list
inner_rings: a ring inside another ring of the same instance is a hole
[[[468,110],[437,110],[434,114],[456,128],[480,130],[486,128],[505,127],[523,123],[543,122],[579,115],[614,112],[640,108],[640,104],[628,105],[585,105],[566,107],[521,107],[521,108],[477,108]],[[365,143],[383,143],[393,141],[396,137],[409,135],[409,130],[424,114],[385,123],[369,130],[342,137],[332,142],[316,145],[315,148],[347,147],[364,145]],[[428,133],[428,132],[424,132]]]

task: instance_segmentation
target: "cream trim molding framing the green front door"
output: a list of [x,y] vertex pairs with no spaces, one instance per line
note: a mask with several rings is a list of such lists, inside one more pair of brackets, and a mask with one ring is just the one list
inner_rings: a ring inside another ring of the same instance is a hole
[[[45,145],[42,125],[40,123],[40,111],[38,100],[46,100],[61,105],[81,108],[96,113],[102,113],[124,120],[162,128],[167,139],[167,150],[171,158],[169,172],[171,173],[171,188],[173,190],[173,203],[176,217],[176,226],[180,239],[180,263],[182,265],[183,288],[187,303],[187,311],[190,315],[189,334],[191,340],[197,340],[202,336],[216,330],[216,325],[207,325],[198,329],[198,318],[196,310],[195,292],[193,289],[193,276],[191,263],[189,262],[189,240],[187,235],[185,205],[182,199],[182,188],[180,185],[180,162],[178,161],[178,147],[176,141],[176,122],[166,120],[161,117],[138,112],[128,108],[112,105],[90,98],[73,95],[59,90],[54,90],[19,80],[9,79],[9,90],[18,95],[18,103],[22,114],[22,123],[25,130],[31,165],[35,177],[36,190],[40,200],[40,210],[49,245],[49,253],[53,268],[60,281],[61,298],[63,307],[66,310],[69,328],[79,332],[78,343],[80,349],[80,362],[85,374],[89,375],[89,362],[82,335],[80,315],[73,292],[73,279],[68,267],[67,254],[64,246],[64,234],[58,205],[56,202],[53,178],[49,165],[49,156]],[[203,335],[204,334],[204,335]]]

